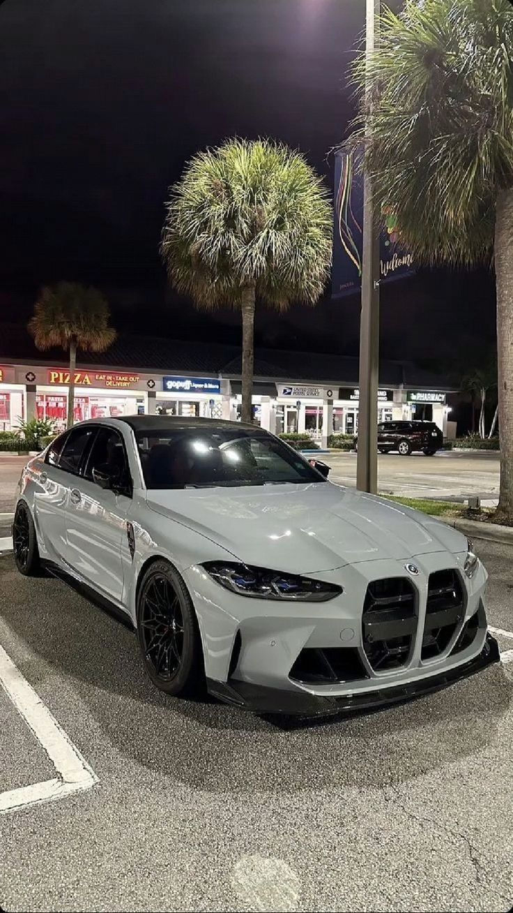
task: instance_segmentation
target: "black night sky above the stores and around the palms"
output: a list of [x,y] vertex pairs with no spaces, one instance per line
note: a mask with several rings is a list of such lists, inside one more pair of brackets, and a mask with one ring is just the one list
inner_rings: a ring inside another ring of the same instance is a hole
[[[61,278],[105,291],[118,330],[237,341],[166,290],[167,187],[235,133],[299,147],[333,182],[364,0],[5,0],[0,5],[0,311],[25,320]],[[382,350],[426,361],[493,341],[486,270],[420,273],[382,294]],[[357,351],[358,301],[326,300],[257,340]],[[477,339],[478,335],[478,339]]]

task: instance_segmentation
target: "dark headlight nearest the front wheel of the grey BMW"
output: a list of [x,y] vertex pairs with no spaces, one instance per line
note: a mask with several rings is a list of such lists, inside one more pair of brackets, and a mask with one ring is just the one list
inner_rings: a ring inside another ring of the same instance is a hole
[[253,599],[280,599],[290,602],[324,603],[342,593],[334,583],[312,580],[296,574],[256,568],[235,561],[206,561],[202,565],[213,580],[226,590]]

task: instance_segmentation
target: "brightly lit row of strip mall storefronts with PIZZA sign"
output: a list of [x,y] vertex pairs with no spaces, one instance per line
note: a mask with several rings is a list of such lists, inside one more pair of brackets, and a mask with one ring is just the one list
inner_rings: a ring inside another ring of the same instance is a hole
[[[20,418],[48,418],[56,430],[66,427],[69,372],[62,367],[0,365],[0,430],[10,431]],[[305,383],[253,384],[253,415],[274,434],[299,432],[326,446],[330,435],[358,431],[359,393],[354,387]],[[380,389],[378,421],[424,419],[447,435],[446,394],[436,390]],[[241,381],[220,377],[149,374],[78,369],[75,420],[103,416],[177,415],[241,417]],[[450,424],[450,423],[449,423]]]

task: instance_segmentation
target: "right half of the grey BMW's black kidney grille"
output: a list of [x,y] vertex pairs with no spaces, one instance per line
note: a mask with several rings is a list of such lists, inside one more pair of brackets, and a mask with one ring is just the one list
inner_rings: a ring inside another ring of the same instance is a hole
[[431,659],[444,652],[464,615],[465,600],[457,571],[449,569],[430,574],[422,659]]

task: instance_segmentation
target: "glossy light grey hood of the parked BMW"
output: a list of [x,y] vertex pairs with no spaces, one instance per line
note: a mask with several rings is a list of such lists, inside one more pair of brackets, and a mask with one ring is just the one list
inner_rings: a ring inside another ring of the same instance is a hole
[[467,548],[426,514],[330,482],[155,490],[147,501],[240,561],[291,573]]

